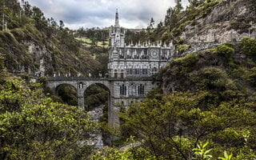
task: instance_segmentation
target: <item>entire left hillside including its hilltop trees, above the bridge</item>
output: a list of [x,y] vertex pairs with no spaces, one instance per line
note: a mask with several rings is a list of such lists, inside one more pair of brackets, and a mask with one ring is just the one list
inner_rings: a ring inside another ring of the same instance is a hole
[[106,51],[82,46],[64,22],[46,19],[28,2],[23,7],[15,0],[1,0],[0,4],[6,18],[6,27],[0,31],[0,52],[10,73],[96,76],[101,70],[100,62],[92,55]]

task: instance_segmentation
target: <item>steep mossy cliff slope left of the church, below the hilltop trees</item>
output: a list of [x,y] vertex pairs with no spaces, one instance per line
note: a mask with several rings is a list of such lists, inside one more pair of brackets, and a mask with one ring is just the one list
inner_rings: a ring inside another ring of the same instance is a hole
[[[55,35],[56,36],[56,35]],[[6,69],[14,74],[33,76],[70,76],[97,70],[99,62],[78,43],[67,49],[58,38],[47,38],[33,25],[0,32],[0,52],[5,57]],[[91,66],[90,66],[91,65]]]

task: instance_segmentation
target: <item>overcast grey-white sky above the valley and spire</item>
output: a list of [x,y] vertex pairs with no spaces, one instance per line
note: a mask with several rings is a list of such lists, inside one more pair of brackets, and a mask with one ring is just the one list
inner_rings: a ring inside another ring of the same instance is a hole
[[[46,18],[62,20],[70,29],[114,26],[115,10],[119,24],[126,28],[146,28],[150,18],[164,20],[166,10],[174,0],[26,0],[38,6]],[[183,6],[187,0],[182,0]]]

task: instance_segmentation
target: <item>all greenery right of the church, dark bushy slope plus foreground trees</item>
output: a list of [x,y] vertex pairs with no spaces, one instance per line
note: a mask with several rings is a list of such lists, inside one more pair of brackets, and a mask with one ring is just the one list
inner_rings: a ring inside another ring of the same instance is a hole
[[[223,150],[234,159],[253,158],[255,63],[238,57],[241,49],[226,43],[170,62],[157,76],[162,88],[121,113],[122,130],[149,146],[156,158],[190,159],[196,151],[196,159],[217,159]],[[210,153],[200,144],[207,141]]]

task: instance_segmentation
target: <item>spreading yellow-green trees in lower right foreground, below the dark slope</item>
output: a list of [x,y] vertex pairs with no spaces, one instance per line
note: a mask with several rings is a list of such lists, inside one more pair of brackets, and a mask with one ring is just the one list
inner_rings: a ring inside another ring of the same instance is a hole
[[[201,108],[200,104],[208,96],[204,91],[155,94],[154,98],[151,96],[137,106],[131,106],[126,114],[121,114],[124,120],[122,130],[130,130],[130,134],[148,146],[157,158],[190,159],[193,148],[198,145],[206,158],[209,151],[200,145],[200,141],[208,139],[214,143],[215,150],[223,146],[226,149],[236,147],[238,153],[245,145],[244,139],[240,138],[243,131],[239,130],[244,128],[244,131],[255,133],[255,112],[245,106],[245,100],[222,102],[208,110]],[[228,136],[232,133],[238,136]],[[252,136],[250,141],[254,139]],[[250,147],[248,150],[252,150]],[[213,156],[218,158],[219,155]]]

